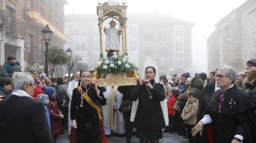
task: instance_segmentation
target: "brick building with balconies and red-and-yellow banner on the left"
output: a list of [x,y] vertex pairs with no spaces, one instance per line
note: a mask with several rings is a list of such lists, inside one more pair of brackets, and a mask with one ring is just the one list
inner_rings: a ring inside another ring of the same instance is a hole
[[[1,65],[13,54],[22,70],[45,65],[45,42],[41,30],[47,24],[54,32],[49,46],[64,48],[64,5],[66,0],[0,0],[1,16],[7,28],[2,29]],[[48,73],[52,65],[48,66]],[[55,75],[64,73],[64,66],[55,69]]]

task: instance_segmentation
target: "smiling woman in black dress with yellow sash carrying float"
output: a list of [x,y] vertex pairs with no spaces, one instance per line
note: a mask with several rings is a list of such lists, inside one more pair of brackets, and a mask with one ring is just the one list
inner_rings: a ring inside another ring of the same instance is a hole
[[72,128],[77,129],[77,136],[73,138],[79,143],[106,142],[103,122],[100,122],[103,119],[101,110],[96,104],[98,101],[100,105],[106,105],[106,99],[98,84],[89,81],[90,71],[82,70],[80,78],[81,84],[73,89],[70,106]]

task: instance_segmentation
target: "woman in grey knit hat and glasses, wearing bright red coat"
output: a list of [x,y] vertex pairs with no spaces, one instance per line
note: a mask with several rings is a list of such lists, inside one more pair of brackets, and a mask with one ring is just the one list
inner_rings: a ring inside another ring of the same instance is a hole
[[38,99],[38,94],[44,94],[44,92],[41,90],[41,88],[44,86],[43,83],[39,80],[38,78],[38,70],[34,67],[32,68],[29,68],[29,70],[27,70],[28,72],[31,73],[31,76],[34,78],[35,80],[35,84],[36,85],[36,88],[34,90],[34,94],[33,94],[33,97],[34,99]]

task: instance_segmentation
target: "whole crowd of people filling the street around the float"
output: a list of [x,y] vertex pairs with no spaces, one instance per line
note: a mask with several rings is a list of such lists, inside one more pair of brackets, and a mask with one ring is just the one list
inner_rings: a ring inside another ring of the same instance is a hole
[[106,143],[111,135],[131,143],[133,133],[159,143],[163,132],[188,143],[254,143],[256,59],[246,64],[243,74],[220,65],[208,78],[159,76],[156,62],[145,62],[137,85],[99,87],[93,71],[47,77],[43,66],[21,71],[10,55],[0,66],[0,142],[54,143],[66,128],[70,143]]

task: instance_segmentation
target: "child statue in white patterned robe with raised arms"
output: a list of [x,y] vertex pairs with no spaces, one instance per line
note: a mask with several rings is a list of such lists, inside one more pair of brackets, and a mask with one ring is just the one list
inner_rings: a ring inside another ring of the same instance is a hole
[[106,52],[109,50],[114,50],[119,52],[119,35],[121,34],[121,30],[115,28],[116,22],[110,21],[110,28],[104,27],[104,33],[107,35],[106,38]]

